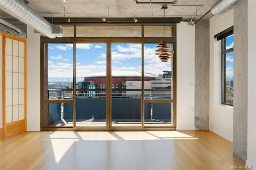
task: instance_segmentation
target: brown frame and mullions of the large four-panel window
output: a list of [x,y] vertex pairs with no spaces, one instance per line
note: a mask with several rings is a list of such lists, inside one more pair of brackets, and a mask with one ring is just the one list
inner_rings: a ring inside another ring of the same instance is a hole
[[[56,23],[56,24],[61,24],[61,23]],[[66,25],[66,24],[62,24],[62,25]],[[145,43],[159,43],[160,41],[162,41],[163,37],[144,37],[144,26],[147,26],[147,25],[154,25],[154,26],[161,26],[162,24],[138,24],[139,26],[141,26],[141,31],[142,31],[142,36],[141,37],[76,37],[76,26],[78,25],[81,25],[81,24],[74,24],[74,37],[58,37],[58,38],[55,38],[55,39],[50,39],[50,38],[47,38],[47,37],[44,37],[44,36],[41,36],[41,107],[40,107],[40,128],[41,130],[130,130],[130,128],[127,128],[127,127],[110,127],[110,123],[108,121],[106,127],[78,127],[76,126],[76,112],[74,111],[74,108],[76,107],[76,100],[75,100],[75,94],[76,94],[76,86],[74,84],[74,82],[76,81],[73,81],[73,91],[74,91],[74,94],[73,94],[73,100],[70,100],[70,101],[63,101],[65,103],[73,103],[73,120],[74,120],[74,123],[73,123],[73,127],[51,127],[51,126],[48,126],[48,125],[44,125],[44,103],[59,103],[59,102],[62,102],[61,100],[48,100],[48,99],[44,99],[44,71],[45,71],[45,64],[46,64],[46,61],[45,61],[45,48],[44,48],[44,45],[48,44],[48,43],[73,43],[73,44],[76,44],[76,43],[107,43],[108,44],[108,47],[111,47],[110,44],[112,43],[141,43],[143,44],[143,47],[144,47],[144,44]],[[93,25],[100,25],[100,24],[93,24]],[[129,26],[130,24],[112,24],[112,25],[116,25],[116,26],[119,26],[119,25],[127,25]],[[171,25],[173,26],[172,27],[172,33],[174,36],[172,37],[167,37],[166,39],[168,40],[169,43],[172,43],[173,44],[173,49],[174,51],[176,51],[176,24],[166,24],[166,25]],[[75,47],[75,45],[74,45]],[[144,59],[144,48],[142,47],[142,59]],[[107,53],[110,53],[111,51],[107,48]],[[74,56],[75,56],[75,51],[74,51]],[[108,55],[111,55],[111,54],[108,54]],[[75,58],[73,58],[73,61],[74,63],[76,63],[75,61]],[[164,99],[158,99],[157,101],[155,101],[155,103],[173,103],[172,105],[172,109],[173,109],[173,117],[172,117],[172,122],[173,124],[170,125],[170,126],[144,126],[144,123],[143,123],[143,126],[142,127],[135,127],[135,128],[132,128],[133,130],[152,130],[152,129],[159,129],[159,130],[175,130],[176,129],[176,53],[174,53],[174,57],[173,57],[173,60],[172,60],[172,64],[173,64],[173,68],[172,68],[172,75],[173,75],[173,99],[168,99],[168,101],[164,100]],[[74,65],[73,63],[73,65]],[[142,62],[143,63],[143,62]],[[144,65],[142,64],[142,68],[144,67]],[[111,68],[109,66],[107,66],[107,68]],[[76,66],[74,65],[73,67],[73,74],[75,75],[76,73]],[[142,77],[143,77],[143,71],[142,71]],[[74,77],[74,80],[76,80],[76,77]],[[143,82],[143,81],[142,81]],[[105,85],[110,85],[109,84],[103,84],[103,87],[105,87]],[[143,87],[143,85],[142,85]],[[104,89],[104,88],[103,88]],[[111,88],[112,89],[112,88]],[[142,91],[143,93],[143,91]],[[111,92],[110,92],[111,94]],[[62,102],[62,103],[63,103]],[[152,103],[152,101],[145,101],[143,98],[142,98],[142,113],[144,112],[144,103]],[[110,110],[110,109],[109,109]],[[110,110],[111,111],[111,110]],[[110,112],[109,112],[110,114]],[[109,114],[106,115],[106,118],[109,119]],[[142,117],[144,117],[142,115]],[[109,119],[110,120],[110,119]]]

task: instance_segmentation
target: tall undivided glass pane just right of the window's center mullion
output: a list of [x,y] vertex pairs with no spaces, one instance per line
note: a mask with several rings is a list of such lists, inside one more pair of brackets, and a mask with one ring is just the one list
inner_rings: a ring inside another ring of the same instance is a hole
[[112,126],[141,124],[142,44],[112,44]]

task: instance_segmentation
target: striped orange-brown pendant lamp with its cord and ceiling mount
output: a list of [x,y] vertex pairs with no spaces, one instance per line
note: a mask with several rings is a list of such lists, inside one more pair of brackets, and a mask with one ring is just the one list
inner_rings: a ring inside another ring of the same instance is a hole
[[[161,10],[165,10],[168,7],[166,5],[163,5]],[[165,11],[164,11],[165,12]],[[165,18],[165,13],[164,13],[164,18]],[[165,23],[164,23],[165,25]],[[165,26],[164,26],[165,27]],[[164,28],[165,29],[165,28]],[[164,30],[165,32],[165,30]],[[172,45],[168,44],[168,42],[165,40],[161,41],[157,46],[156,46],[156,55],[159,55],[160,60],[162,60],[162,62],[167,62],[169,58],[171,58],[173,56],[173,49],[172,49]]]

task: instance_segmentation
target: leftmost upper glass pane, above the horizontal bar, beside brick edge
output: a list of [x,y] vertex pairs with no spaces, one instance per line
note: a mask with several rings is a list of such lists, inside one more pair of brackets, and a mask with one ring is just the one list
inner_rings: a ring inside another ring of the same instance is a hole
[[45,99],[73,98],[73,44],[45,44]]

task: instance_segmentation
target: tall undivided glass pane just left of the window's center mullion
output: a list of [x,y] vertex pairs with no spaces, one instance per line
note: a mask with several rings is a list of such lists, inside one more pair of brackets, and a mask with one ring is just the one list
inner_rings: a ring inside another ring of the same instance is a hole
[[76,126],[105,127],[105,43],[76,43],[76,77]]

